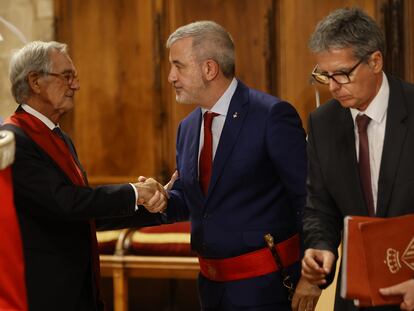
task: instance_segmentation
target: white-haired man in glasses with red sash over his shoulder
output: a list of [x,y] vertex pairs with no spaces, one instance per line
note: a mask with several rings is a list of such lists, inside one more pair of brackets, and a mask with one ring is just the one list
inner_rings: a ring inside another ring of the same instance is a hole
[[[0,129],[16,138],[11,172],[29,310],[103,310],[95,220],[106,226],[111,217],[114,225],[127,217],[136,218],[135,225],[153,223],[137,202],[162,209],[164,189],[153,179],[88,187],[75,147],[59,127],[80,88],[65,44],[25,45],[11,59],[10,82],[19,106]],[[18,264],[23,266],[10,261]]]

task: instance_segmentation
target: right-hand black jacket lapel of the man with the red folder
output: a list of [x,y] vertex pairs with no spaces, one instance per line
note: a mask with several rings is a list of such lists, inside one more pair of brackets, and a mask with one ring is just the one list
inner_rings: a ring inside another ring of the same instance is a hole
[[385,217],[398,169],[398,159],[404,144],[407,127],[403,122],[407,117],[405,99],[401,85],[397,80],[387,77],[390,85],[390,97],[387,110],[384,147],[382,151],[380,174],[378,179],[377,216]]

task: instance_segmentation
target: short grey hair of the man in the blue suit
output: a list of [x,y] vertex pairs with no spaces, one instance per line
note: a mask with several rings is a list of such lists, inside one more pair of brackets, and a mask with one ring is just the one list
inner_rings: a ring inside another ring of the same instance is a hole
[[167,40],[167,48],[180,39],[191,37],[198,60],[215,60],[227,78],[235,72],[234,43],[230,33],[213,21],[197,21],[175,30]]

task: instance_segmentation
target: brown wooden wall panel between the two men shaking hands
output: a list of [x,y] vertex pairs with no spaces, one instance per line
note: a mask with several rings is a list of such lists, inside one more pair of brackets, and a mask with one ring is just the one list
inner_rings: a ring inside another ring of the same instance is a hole
[[161,109],[153,2],[72,1],[65,9],[71,35],[62,39],[81,81],[72,135],[91,182],[156,175]]

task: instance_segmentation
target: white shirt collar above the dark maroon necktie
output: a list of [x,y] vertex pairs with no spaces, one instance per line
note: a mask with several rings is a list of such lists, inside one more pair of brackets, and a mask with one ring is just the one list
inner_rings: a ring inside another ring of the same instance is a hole
[[[383,72],[381,87],[377,95],[374,97],[374,99],[368,105],[367,109],[364,111],[364,114],[366,114],[368,117],[370,117],[375,122],[381,123],[385,117],[385,114],[387,113],[389,98],[390,98],[390,86],[388,84],[387,76]],[[351,114],[355,122],[356,116],[358,114],[361,114],[361,112],[358,109],[351,108]]]

